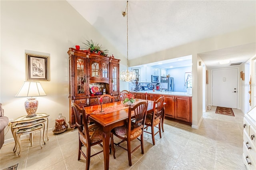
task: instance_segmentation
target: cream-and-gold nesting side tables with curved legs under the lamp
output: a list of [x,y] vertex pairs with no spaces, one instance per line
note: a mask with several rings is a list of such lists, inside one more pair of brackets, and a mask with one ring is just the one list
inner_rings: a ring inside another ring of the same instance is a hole
[[[32,132],[35,132],[36,130],[40,130],[40,146],[42,148],[41,140],[43,138],[44,144],[45,144],[45,136],[46,133],[47,141],[48,138],[48,114],[46,113],[36,113],[36,116],[34,117],[26,117],[22,116],[18,119],[12,121],[11,130],[12,135],[15,141],[14,146],[14,153],[18,154],[20,156],[21,152],[21,142],[20,142],[20,135],[21,134],[30,134],[30,144],[33,146],[33,135]],[[46,132],[45,132],[46,131]],[[18,152],[19,148],[19,152]]]

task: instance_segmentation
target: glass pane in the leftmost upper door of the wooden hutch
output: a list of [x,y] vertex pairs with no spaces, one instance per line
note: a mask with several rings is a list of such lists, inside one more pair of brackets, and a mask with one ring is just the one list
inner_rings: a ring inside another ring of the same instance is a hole
[[76,93],[84,94],[84,65],[85,61],[82,58],[76,58]]

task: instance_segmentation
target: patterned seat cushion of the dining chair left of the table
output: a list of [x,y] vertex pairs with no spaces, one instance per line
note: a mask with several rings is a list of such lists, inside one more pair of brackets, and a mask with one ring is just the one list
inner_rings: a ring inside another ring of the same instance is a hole
[[[94,125],[88,126],[88,130],[89,130],[90,140],[91,140],[92,144],[102,140],[102,128],[101,127],[98,127],[97,125],[94,124]],[[84,136],[82,134],[79,133],[79,137],[80,137],[80,140],[82,140],[84,143],[87,143],[86,139],[84,138]]]

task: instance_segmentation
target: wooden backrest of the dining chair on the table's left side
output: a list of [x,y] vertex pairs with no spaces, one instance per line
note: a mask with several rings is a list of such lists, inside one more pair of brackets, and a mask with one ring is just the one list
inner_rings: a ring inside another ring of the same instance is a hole
[[90,135],[88,130],[88,122],[84,108],[79,107],[76,103],[72,103],[76,125],[78,132],[84,136],[86,142],[90,142]]

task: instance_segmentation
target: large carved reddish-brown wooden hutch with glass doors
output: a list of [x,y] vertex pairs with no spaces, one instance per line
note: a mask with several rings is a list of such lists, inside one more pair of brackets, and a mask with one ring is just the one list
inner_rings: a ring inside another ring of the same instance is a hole
[[[75,127],[72,103],[80,107],[98,105],[98,96],[93,94],[92,87],[99,92],[106,89],[106,94],[114,95],[118,100],[119,63],[120,59],[106,57],[97,53],[69,48],[69,125]],[[92,95],[93,94],[93,95]]]

